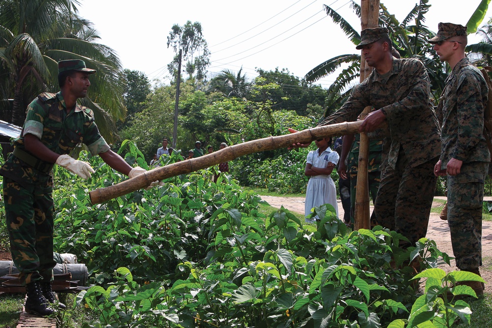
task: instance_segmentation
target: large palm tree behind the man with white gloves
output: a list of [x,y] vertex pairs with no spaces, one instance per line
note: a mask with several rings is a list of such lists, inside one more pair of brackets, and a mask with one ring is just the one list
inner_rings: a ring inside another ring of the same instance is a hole
[[[91,108],[101,134],[115,140],[114,119],[123,119],[123,68],[102,44],[92,23],[77,15],[78,0],[0,0],[0,99],[13,98],[11,122],[22,125],[36,94],[56,92],[59,60],[81,59],[91,76]],[[104,108],[104,109],[103,109]]]

